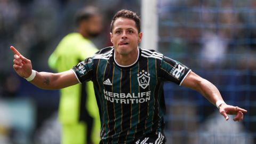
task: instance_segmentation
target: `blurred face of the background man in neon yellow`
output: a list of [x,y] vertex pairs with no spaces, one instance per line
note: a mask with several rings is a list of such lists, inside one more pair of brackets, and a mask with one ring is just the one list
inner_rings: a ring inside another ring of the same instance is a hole
[[100,15],[93,15],[86,21],[85,30],[89,37],[96,37],[102,30],[102,18]]

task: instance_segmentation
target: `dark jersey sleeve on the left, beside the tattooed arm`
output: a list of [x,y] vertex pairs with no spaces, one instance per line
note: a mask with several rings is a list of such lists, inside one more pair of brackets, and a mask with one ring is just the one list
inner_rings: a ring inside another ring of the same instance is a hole
[[72,69],[79,83],[91,81],[93,77],[93,59],[87,58],[79,62]]

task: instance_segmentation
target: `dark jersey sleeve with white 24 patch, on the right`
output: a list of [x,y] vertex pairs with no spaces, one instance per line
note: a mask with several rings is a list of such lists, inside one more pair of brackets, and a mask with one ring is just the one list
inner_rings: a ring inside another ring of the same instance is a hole
[[174,82],[181,85],[191,70],[173,59],[164,57],[161,61],[160,74],[164,82]]

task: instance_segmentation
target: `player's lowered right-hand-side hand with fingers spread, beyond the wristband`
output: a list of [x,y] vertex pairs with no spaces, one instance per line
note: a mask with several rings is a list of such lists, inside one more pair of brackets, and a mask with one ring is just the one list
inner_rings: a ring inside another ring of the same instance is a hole
[[233,120],[234,121],[242,121],[244,118],[243,113],[247,113],[247,110],[234,107],[230,105],[226,105],[225,103],[220,105],[220,114],[225,117],[226,121],[229,119],[228,115],[236,115]]

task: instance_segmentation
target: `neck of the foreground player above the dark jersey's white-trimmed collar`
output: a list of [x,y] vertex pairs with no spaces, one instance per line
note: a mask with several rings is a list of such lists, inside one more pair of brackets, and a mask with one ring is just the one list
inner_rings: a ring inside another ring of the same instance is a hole
[[139,57],[139,49],[135,49],[129,54],[119,54],[117,51],[115,51],[114,59],[116,63],[120,66],[131,66],[133,63],[137,61]]

